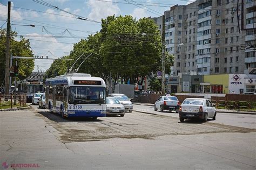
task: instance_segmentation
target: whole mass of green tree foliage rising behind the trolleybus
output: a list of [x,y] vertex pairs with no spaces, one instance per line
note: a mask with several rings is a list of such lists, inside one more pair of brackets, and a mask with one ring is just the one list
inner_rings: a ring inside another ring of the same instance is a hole
[[[134,83],[138,77],[161,69],[161,48],[161,35],[153,20],[109,16],[102,19],[99,32],[73,46],[67,56],[71,61],[53,62],[46,74],[49,74],[48,77],[63,74],[63,70],[70,70],[82,55],[70,71],[75,71],[84,61],[79,73],[90,73],[106,81],[111,72],[113,79]],[[166,73],[170,73],[171,65],[172,56],[166,54]]]

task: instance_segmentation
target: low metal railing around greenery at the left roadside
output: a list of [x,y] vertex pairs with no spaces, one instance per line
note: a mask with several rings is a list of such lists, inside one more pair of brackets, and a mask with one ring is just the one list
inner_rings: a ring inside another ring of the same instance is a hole
[[0,107],[3,109],[24,107],[26,105],[26,94],[2,95],[0,94]]

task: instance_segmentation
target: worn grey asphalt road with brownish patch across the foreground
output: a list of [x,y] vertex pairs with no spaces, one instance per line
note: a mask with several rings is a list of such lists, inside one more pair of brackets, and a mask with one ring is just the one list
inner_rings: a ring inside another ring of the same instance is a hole
[[256,168],[252,128],[135,111],[66,120],[32,107],[0,112],[2,162],[35,169]]

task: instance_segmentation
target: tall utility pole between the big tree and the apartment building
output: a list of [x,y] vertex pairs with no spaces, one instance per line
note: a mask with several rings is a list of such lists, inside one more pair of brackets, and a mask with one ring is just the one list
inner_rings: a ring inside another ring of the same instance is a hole
[[162,81],[161,94],[165,95],[165,15],[163,15],[162,24]]

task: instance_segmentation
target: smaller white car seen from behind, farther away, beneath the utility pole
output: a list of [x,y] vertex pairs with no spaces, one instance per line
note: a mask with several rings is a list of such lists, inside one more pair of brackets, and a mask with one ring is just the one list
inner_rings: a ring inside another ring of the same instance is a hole
[[154,103],[154,111],[160,109],[161,111],[175,110],[177,113],[179,112],[179,100],[175,96],[160,96],[158,100]]

